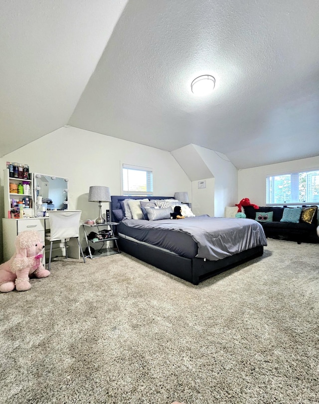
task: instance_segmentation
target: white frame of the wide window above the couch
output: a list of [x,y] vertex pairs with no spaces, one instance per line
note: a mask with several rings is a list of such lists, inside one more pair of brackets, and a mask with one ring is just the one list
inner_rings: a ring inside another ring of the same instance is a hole
[[[281,173],[272,173],[272,174],[267,174],[266,175],[266,206],[296,206],[296,205],[319,205],[319,197],[318,197],[318,201],[315,200],[307,200],[308,195],[310,193],[310,186],[309,186],[309,178],[308,175],[313,173],[313,172],[318,172],[317,175],[319,175],[319,167],[314,167],[314,168],[310,168],[310,169],[304,169],[304,170],[298,170],[298,171],[290,171],[290,172],[281,172]],[[299,175],[300,174],[305,174],[306,173],[306,200],[305,201],[295,201],[295,202],[280,202],[280,203],[275,203],[275,202],[268,202],[271,200],[274,200],[275,195],[270,195],[271,192],[271,186],[270,186],[270,178],[274,178],[274,177],[280,177],[280,176],[291,176],[290,180],[291,183],[290,184],[290,192],[291,194],[296,195],[296,193],[300,192],[300,178]],[[297,179],[298,179],[298,183],[297,183]]]

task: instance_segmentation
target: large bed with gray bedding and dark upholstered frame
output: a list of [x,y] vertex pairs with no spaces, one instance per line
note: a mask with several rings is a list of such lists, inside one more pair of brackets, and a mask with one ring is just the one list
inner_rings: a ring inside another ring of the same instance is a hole
[[[262,226],[252,219],[202,215],[180,220],[145,220],[145,210],[143,218],[126,218],[124,204],[133,206],[143,199],[111,196],[111,219],[119,223],[115,228],[120,249],[193,285],[263,255],[267,246]],[[162,200],[158,203],[165,206],[165,201],[173,198],[149,199]],[[156,213],[159,214],[159,209]]]

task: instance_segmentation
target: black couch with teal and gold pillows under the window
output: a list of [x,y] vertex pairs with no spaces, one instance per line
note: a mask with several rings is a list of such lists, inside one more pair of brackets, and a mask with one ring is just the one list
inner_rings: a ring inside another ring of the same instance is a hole
[[261,223],[266,237],[297,241],[298,244],[319,243],[318,206],[260,206],[258,209],[244,206],[243,209],[247,218]]

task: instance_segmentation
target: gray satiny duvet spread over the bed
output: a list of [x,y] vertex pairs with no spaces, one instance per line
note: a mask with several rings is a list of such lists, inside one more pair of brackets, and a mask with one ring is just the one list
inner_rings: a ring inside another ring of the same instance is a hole
[[[196,258],[206,258],[210,261],[220,260],[253,247],[267,246],[262,225],[252,219],[196,216],[179,220],[131,219],[124,220],[121,225],[122,228],[128,226],[134,229],[171,230],[188,234],[198,245]],[[174,251],[173,246],[171,251]]]

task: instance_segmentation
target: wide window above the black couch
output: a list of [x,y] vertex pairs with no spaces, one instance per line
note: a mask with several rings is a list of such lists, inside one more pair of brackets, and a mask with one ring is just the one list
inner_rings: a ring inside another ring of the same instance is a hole
[[267,176],[266,203],[318,204],[319,170]]

